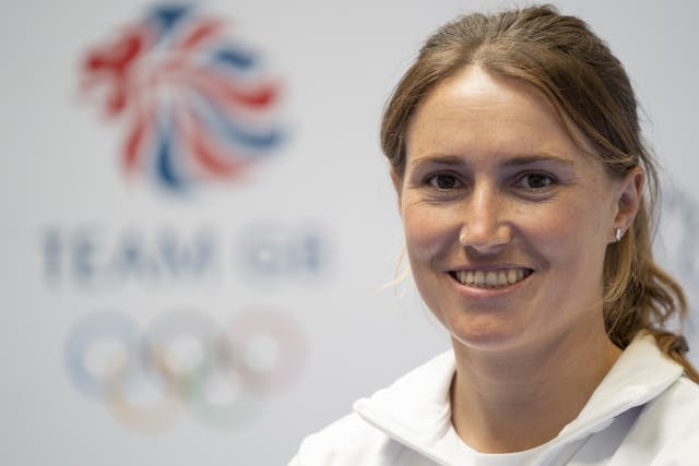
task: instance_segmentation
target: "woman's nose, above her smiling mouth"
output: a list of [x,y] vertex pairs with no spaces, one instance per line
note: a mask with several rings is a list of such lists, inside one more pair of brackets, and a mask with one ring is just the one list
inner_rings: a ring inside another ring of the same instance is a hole
[[502,251],[512,240],[508,215],[507,199],[497,187],[489,183],[475,186],[464,200],[459,242],[479,254]]

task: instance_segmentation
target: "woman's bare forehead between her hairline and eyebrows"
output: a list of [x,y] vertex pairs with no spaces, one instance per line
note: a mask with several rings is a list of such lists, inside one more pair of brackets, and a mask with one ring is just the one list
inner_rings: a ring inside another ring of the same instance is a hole
[[540,91],[478,67],[450,76],[423,100],[410,122],[406,152],[408,165],[429,155],[478,154],[592,162]]

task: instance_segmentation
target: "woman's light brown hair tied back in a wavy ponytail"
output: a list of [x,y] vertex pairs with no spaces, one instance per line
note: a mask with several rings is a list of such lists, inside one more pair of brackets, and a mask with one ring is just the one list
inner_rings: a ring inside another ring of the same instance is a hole
[[470,64],[535,86],[561,120],[585,138],[612,176],[624,177],[638,166],[645,171],[647,191],[633,224],[606,251],[606,332],[621,349],[639,332],[649,332],[661,350],[699,382],[685,358],[685,338],[668,330],[674,319],[686,316],[684,292],[653,261],[660,189],[655,163],[641,136],[636,96],[619,60],[582,20],[542,5],[469,14],[435,32],[383,112],[381,146],[394,172],[402,177],[405,169],[405,138],[414,110],[439,83]]

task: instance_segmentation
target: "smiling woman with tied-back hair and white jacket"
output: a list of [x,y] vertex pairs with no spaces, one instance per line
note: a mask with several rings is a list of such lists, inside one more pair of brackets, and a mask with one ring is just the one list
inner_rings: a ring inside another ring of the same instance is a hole
[[[382,122],[415,283],[453,350],[292,465],[684,465],[699,380],[653,262],[629,80],[550,7],[437,31]],[[691,455],[691,456],[690,456]]]

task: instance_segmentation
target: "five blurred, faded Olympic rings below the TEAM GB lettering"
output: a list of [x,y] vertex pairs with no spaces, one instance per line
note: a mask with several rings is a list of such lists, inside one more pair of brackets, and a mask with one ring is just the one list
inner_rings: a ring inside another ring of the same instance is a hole
[[164,427],[185,407],[211,427],[238,427],[293,384],[306,360],[296,323],[275,311],[247,311],[220,326],[176,310],[146,328],[123,313],[88,314],[68,332],[63,351],[73,385],[140,430]]

